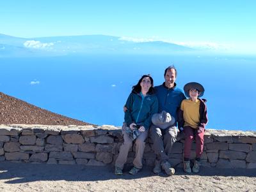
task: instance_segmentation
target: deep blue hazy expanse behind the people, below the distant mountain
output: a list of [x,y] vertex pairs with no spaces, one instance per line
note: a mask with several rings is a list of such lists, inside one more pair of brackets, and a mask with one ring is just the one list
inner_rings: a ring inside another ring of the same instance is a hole
[[[255,131],[256,59],[198,55],[69,55],[0,58],[0,91],[93,124],[121,126],[132,85],[150,73],[154,85],[164,69],[177,68],[177,86],[205,87],[207,128]],[[31,84],[31,82],[38,82]]]

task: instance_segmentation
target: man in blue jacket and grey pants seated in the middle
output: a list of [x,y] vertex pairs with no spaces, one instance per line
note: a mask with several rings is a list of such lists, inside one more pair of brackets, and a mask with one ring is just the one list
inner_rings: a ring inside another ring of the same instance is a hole
[[[159,103],[159,112],[164,110],[172,115],[172,117],[175,117],[175,125],[177,124],[177,110],[180,107],[181,101],[186,99],[183,92],[176,87],[176,77],[177,70],[174,66],[169,66],[164,70],[165,82],[155,87]],[[153,142],[154,152],[157,155],[153,172],[159,174],[163,169],[167,175],[173,175],[175,170],[171,167],[168,159],[172,151],[172,146],[177,140],[176,126],[161,129],[153,124],[150,127],[150,138]]]

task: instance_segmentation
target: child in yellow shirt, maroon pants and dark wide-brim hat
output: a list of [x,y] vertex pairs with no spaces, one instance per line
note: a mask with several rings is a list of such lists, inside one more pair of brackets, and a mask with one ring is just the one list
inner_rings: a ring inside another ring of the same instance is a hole
[[196,142],[196,159],[192,171],[200,170],[200,158],[204,148],[204,131],[208,122],[206,100],[199,99],[204,94],[204,87],[196,82],[184,86],[185,95],[189,98],[183,100],[179,110],[179,129],[184,131],[184,172],[191,173],[190,152],[193,138]]

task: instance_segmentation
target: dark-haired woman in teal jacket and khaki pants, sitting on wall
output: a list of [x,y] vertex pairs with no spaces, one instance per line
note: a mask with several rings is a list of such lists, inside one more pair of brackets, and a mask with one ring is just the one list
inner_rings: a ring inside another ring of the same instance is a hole
[[138,84],[132,87],[125,107],[124,125],[122,133],[124,143],[120,147],[120,152],[115,163],[115,174],[122,175],[124,163],[127,161],[129,149],[132,147],[132,138],[129,137],[127,129],[134,130],[138,127],[138,137],[136,138],[136,154],[133,161],[133,168],[129,174],[137,174],[142,168],[142,157],[145,149],[145,139],[148,136],[148,129],[151,125],[151,117],[158,112],[158,101],[154,94],[154,82],[150,75],[143,75]]

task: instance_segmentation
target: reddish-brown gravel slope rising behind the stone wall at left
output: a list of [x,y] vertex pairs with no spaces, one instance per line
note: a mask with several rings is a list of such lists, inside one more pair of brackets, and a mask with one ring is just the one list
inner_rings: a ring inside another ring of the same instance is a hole
[[88,125],[0,92],[0,124]]

